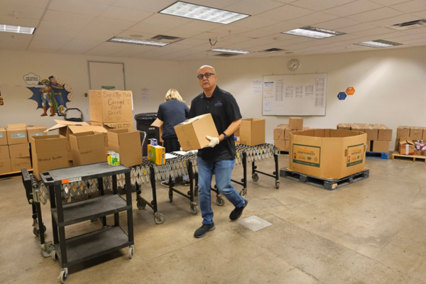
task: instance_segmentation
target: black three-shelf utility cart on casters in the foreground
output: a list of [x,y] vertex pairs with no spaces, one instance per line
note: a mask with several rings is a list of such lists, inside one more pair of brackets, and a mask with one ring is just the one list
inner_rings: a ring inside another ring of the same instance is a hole
[[[117,194],[116,176],[126,177],[126,200]],[[103,177],[112,176],[113,194],[104,195]],[[65,283],[68,267],[102,256],[112,251],[129,247],[129,257],[133,257],[133,215],[131,207],[130,169],[124,165],[112,166],[108,163],[80,165],[72,168],[49,170],[41,178],[49,188],[50,210],[52,213],[53,256],[62,266],[60,280]],[[80,202],[62,204],[62,184],[98,179],[99,197]],[[119,224],[119,212],[127,211],[127,232]],[[114,225],[107,224],[107,215],[114,214]],[[65,226],[101,218],[103,227],[97,231],[65,237]]]

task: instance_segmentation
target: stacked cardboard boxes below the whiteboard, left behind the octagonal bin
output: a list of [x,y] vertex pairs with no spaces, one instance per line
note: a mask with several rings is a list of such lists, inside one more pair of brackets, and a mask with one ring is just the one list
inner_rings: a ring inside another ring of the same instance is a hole
[[290,117],[288,124],[280,124],[273,129],[273,142],[275,147],[282,152],[288,152],[290,148],[290,133],[307,130],[309,127],[303,127],[301,117]]

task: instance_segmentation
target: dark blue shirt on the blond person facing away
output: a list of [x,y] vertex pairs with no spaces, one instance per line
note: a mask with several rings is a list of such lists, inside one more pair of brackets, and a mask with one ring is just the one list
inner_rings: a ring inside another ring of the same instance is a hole
[[190,108],[184,102],[169,99],[158,107],[157,118],[163,121],[163,135],[161,138],[176,137],[175,126],[185,121]]

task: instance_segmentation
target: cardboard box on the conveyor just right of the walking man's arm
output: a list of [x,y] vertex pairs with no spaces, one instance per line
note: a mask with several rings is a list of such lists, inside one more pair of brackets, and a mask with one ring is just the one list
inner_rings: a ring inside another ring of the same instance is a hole
[[265,119],[241,119],[240,143],[256,146],[265,143]]

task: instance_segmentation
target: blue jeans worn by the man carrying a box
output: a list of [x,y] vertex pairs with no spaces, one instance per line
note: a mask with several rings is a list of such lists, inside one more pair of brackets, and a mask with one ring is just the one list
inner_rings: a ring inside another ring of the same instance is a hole
[[212,162],[197,157],[198,167],[198,200],[200,202],[202,224],[213,223],[212,210],[212,176],[215,175],[219,192],[235,207],[243,207],[245,201],[231,184],[231,173],[235,160],[219,160]]

